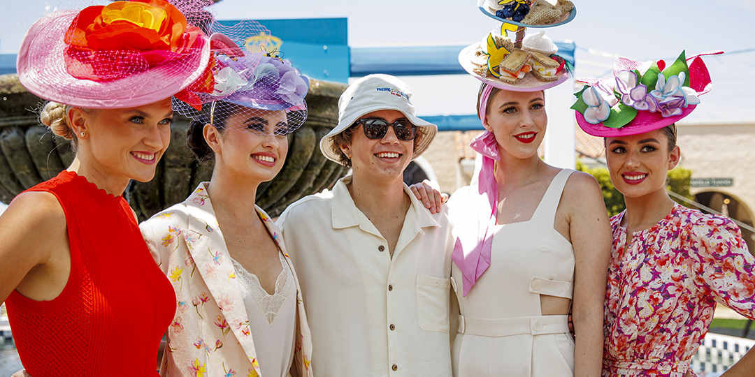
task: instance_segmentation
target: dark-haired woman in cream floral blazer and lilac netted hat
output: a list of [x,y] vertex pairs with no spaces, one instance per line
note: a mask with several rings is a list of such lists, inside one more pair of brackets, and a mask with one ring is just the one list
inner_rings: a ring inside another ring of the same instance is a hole
[[312,375],[294,268],[280,229],[254,204],[283,166],[286,133],[307,117],[309,82],[288,60],[240,57],[223,43],[202,110],[174,103],[194,119],[188,143],[200,161],[214,160],[212,179],[140,225],[176,293],[161,373]]

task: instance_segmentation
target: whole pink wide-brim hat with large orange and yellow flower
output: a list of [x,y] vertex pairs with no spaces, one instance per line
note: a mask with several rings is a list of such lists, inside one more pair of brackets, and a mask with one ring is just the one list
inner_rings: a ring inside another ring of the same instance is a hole
[[[176,2],[190,8],[193,0]],[[18,78],[46,100],[90,109],[143,106],[207,79],[210,44],[165,0],[134,0],[37,20],[21,42]]]

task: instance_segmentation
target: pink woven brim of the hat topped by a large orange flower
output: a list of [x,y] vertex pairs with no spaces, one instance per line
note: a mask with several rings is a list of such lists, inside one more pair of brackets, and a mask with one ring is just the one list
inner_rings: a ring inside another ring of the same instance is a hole
[[[29,92],[45,100],[87,109],[122,109],[165,100],[188,87],[207,68],[210,44],[197,38],[182,59],[168,60],[153,68],[138,54],[122,61],[122,78],[93,81],[76,78],[66,70],[63,36],[79,11],[64,10],[37,20],[23,37],[16,67],[19,81]],[[133,74],[128,74],[133,71]]]

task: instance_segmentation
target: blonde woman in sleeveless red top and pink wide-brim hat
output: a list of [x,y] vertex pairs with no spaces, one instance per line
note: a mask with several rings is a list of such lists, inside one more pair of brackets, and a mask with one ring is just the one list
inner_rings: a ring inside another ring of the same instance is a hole
[[26,33],[20,82],[75,147],[0,216],[0,298],[32,375],[157,375],[175,295],[122,194],[155,176],[171,96],[208,58],[208,38],[163,0],[56,11]]

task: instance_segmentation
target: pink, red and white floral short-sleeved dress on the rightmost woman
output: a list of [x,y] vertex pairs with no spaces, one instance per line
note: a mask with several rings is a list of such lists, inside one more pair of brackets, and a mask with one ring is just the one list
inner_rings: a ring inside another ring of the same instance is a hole
[[611,218],[604,376],[682,377],[716,302],[755,318],[755,259],[730,219],[675,204],[627,245]]

